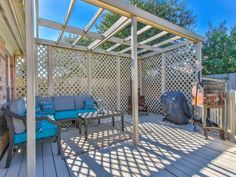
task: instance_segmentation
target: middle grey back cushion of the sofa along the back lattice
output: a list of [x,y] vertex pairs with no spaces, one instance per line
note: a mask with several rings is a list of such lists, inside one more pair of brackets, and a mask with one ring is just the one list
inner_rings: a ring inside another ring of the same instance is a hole
[[55,96],[54,97],[55,111],[74,110],[74,96]]

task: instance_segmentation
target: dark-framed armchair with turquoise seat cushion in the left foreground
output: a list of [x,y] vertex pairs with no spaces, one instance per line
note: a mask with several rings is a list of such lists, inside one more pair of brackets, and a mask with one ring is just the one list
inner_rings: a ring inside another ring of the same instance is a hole
[[[17,100],[18,101],[18,100]],[[11,104],[16,103],[9,102],[3,105],[2,111],[4,117],[7,120],[7,125],[9,128],[9,149],[6,159],[5,168],[8,168],[12,159],[13,150],[17,146],[22,146],[26,143],[27,140],[27,130],[19,133],[19,130],[16,130],[17,123],[26,123],[26,114],[17,113],[15,110],[11,110]],[[22,104],[22,103],[20,103]],[[25,108],[25,104],[21,105],[22,108]],[[37,127],[39,125],[39,127]],[[45,139],[56,139],[58,146],[58,154],[61,154],[61,127],[58,122],[53,120],[48,116],[37,116],[36,117],[36,139],[37,141],[43,141]]]

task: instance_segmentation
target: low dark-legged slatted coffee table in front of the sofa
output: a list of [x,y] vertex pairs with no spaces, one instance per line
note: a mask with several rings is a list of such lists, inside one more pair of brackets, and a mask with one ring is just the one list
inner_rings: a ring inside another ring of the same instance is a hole
[[85,140],[88,139],[88,123],[93,120],[98,120],[98,124],[100,124],[101,119],[112,118],[112,126],[115,126],[115,117],[121,118],[121,130],[124,131],[124,112],[121,111],[110,111],[105,110],[104,113],[100,114],[96,112],[89,113],[79,113],[78,114],[78,123],[79,123],[79,133],[81,134],[81,123],[84,123],[85,129]]

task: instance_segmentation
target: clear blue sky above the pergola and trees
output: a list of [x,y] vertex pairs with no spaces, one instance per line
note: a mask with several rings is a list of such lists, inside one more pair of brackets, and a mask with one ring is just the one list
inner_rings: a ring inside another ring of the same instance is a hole
[[[227,27],[236,25],[236,0],[185,0],[186,7],[197,16],[195,31],[204,35],[208,30],[208,22],[219,25],[224,20]],[[63,23],[70,0],[39,0],[39,16]],[[68,25],[84,28],[97,11],[97,7],[77,0]],[[99,23],[99,20],[98,22]],[[95,25],[91,31],[95,31]],[[59,31],[40,27],[41,38],[56,40]],[[65,33],[67,35],[67,33]]]

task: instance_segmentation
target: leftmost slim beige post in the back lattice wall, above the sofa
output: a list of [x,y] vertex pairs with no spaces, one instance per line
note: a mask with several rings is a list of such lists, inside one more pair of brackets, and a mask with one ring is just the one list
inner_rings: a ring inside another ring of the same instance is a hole
[[52,46],[48,46],[48,96],[53,96],[53,87]]

